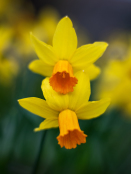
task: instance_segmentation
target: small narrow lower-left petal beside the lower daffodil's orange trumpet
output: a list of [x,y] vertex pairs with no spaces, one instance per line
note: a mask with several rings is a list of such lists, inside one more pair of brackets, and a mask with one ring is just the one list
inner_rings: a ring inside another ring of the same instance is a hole
[[35,128],[34,131],[41,131],[44,129],[51,129],[59,127],[58,119],[45,119],[38,128]]

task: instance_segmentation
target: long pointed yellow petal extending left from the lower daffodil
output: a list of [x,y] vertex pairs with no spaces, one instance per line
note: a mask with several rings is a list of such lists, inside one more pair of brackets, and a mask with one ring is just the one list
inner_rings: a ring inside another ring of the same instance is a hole
[[51,109],[45,100],[36,97],[18,100],[19,104],[26,110],[43,118],[58,118],[59,113]]

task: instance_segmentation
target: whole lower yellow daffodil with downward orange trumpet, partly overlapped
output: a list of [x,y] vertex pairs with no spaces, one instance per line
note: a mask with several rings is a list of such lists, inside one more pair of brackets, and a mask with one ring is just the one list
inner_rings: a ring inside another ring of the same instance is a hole
[[78,119],[88,120],[100,116],[107,109],[110,99],[90,102],[90,82],[83,71],[75,74],[79,83],[72,93],[62,95],[55,92],[49,84],[49,78],[42,82],[45,100],[31,97],[20,99],[19,104],[28,111],[45,120],[35,131],[59,127],[58,144],[66,149],[76,148],[86,143],[87,135],[80,129]]

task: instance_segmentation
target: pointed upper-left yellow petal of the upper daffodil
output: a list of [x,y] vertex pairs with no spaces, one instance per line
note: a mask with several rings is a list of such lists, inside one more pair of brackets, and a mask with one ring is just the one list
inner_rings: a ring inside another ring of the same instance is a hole
[[32,33],[30,34],[31,41],[37,56],[46,64],[54,66],[58,58],[53,50],[53,47],[38,40]]

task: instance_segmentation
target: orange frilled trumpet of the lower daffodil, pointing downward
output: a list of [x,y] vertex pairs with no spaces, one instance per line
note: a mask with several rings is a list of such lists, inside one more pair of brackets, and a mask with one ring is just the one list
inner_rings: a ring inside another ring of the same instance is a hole
[[58,144],[66,149],[76,148],[77,144],[86,143],[87,135],[80,129],[76,113],[66,109],[59,114],[60,134]]

